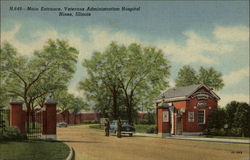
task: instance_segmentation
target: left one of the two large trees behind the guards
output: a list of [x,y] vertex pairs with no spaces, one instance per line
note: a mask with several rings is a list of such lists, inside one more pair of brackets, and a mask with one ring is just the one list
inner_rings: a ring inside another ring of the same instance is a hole
[[[93,100],[97,108],[106,112],[113,119],[118,119],[119,81],[114,72],[115,56],[109,54],[109,50],[103,54],[96,52],[90,60],[85,60],[83,66],[87,69],[88,78],[80,82],[89,100]],[[110,108],[105,111],[106,108]]]

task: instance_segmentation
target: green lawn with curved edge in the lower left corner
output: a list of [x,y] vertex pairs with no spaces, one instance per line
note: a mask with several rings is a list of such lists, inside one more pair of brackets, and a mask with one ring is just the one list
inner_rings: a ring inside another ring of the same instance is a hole
[[64,160],[69,148],[62,142],[3,141],[0,142],[0,160]]

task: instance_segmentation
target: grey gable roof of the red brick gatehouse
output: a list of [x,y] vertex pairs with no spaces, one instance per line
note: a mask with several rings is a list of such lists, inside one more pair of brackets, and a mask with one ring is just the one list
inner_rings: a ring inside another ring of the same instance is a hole
[[204,84],[194,84],[194,85],[185,86],[185,87],[170,88],[166,92],[163,93],[162,97],[159,97],[158,99],[165,99],[169,101],[185,100],[202,87],[205,87],[208,91],[210,91],[211,95],[215,97],[217,100],[220,99],[218,95],[216,95],[210,88],[208,88]]

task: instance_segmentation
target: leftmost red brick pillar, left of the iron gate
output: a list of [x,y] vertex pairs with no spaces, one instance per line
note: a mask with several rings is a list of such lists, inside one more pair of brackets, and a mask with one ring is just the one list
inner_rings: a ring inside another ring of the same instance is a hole
[[21,101],[10,103],[10,126],[17,127],[21,134],[25,134],[25,113]]

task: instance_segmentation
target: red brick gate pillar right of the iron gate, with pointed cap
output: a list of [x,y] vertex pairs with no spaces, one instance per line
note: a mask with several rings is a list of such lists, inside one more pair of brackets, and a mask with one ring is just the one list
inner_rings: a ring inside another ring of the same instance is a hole
[[56,139],[56,105],[57,102],[51,98],[44,103],[43,139]]

